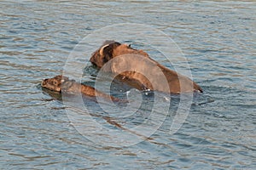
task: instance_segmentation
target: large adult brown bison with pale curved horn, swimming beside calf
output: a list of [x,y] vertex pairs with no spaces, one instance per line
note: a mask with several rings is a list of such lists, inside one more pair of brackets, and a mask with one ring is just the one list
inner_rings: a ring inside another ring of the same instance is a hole
[[90,62],[140,90],[148,88],[171,94],[202,92],[189,77],[160,65],[143,50],[119,42],[105,42],[92,54]]

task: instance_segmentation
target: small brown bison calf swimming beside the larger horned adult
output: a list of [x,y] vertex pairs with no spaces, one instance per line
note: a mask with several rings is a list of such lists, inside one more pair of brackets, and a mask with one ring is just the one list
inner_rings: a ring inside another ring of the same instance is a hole
[[84,84],[80,84],[79,82],[75,82],[74,80],[68,79],[68,77],[64,76],[56,76],[53,78],[44,79],[41,82],[41,86],[43,88],[47,88],[49,90],[65,93],[65,94],[79,94],[82,93],[86,96],[90,97],[102,97],[105,99],[112,99],[113,101],[120,101],[120,99],[114,98],[111,95],[104,94],[95,88],[90,86],[86,86]]

